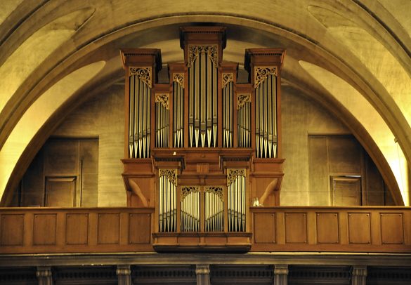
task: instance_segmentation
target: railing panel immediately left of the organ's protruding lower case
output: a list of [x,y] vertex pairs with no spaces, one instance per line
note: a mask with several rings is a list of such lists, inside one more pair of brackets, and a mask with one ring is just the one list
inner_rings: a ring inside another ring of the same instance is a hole
[[129,243],[150,244],[151,215],[148,213],[131,213],[129,215]]

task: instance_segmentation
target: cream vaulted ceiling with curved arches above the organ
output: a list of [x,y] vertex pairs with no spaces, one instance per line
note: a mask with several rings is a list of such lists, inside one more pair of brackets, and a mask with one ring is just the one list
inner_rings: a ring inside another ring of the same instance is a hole
[[286,48],[283,82],[344,121],[409,204],[410,13],[408,0],[3,0],[2,203],[65,115],[124,78],[120,48],[182,61],[178,27],[207,23],[227,27],[226,61]]

